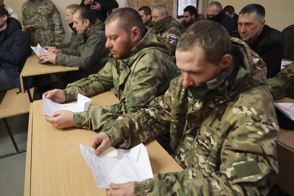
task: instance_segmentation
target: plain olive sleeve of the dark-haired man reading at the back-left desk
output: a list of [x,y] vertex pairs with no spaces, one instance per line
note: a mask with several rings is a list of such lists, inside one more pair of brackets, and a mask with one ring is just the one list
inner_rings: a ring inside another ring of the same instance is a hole
[[88,38],[87,47],[80,56],[58,54],[56,55],[56,62],[67,66],[80,67],[81,69],[97,70],[99,64],[95,62],[99,62],[101,55],[104,55],[104,43],[106,43],[105,36],[97,33]]

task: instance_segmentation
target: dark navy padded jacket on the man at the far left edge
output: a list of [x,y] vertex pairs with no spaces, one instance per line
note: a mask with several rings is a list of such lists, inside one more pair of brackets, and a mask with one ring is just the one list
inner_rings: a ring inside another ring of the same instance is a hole
[[15,18],[7,19],[6,29],[0,31],[0,66],[9,79],[21,89],[19,75],[32,51],[30,38]]

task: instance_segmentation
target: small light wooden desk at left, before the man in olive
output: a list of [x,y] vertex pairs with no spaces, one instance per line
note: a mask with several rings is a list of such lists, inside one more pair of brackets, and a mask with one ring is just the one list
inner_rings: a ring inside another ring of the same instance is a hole
[[38,61],[38,56],[35,53],[27,58],[20,74],[22,93],[24,93],[23,77],[79,70],[78,67],[68,67],[57,63],[55,65],[42,65]]

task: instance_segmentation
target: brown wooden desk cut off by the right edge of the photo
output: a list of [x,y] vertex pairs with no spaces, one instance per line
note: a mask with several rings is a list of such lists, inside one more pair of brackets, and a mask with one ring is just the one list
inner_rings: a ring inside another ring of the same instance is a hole
[[[293,99],[288,97],[275,101],[276,103],[294,103]],[[288,118],[285,116],[285,118]],[[277,145],[279,175],[276,184],[294,195],[294,130],[285,130],[280,128],[279,140]]]

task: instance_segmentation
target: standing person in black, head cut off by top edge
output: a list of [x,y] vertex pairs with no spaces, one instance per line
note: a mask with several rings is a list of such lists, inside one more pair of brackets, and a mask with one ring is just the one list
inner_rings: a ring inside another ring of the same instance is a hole
[[104,23],[107,12],[114,8],[118,8],[119,4],[115,0],[82,0],[80,6],[86,6],[91,10],[94,22],[98,18]]

